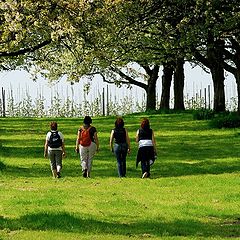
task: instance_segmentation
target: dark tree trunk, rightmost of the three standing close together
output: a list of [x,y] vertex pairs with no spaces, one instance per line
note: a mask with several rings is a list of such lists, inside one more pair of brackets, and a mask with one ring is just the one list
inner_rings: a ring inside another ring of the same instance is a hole
[[184,59],[178,58],[174,71],[174,110],[185,110],[184,107]]

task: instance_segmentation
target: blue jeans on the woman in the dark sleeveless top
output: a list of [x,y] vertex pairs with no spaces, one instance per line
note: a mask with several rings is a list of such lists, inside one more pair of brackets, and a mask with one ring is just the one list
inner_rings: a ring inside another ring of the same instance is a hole
[[127,143],[114,144],[114,153],[117,158],[117,168],[119,177],[126,177],[127,150],[128,150]]

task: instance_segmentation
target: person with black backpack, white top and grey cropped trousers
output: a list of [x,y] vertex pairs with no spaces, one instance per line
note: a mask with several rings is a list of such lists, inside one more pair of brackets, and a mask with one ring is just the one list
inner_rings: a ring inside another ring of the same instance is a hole
[[44,145],[44,157],[49,158],[52,175],[61,177],[62,157],[66,156],[63,134],[57,131],[57,122],[50,123],[50,129],[46,135]]

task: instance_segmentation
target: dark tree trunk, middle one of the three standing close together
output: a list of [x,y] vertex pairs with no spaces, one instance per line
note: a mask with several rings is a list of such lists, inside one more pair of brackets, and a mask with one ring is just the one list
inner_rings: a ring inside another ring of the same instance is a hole
[[162,76],[162,95],[160,102],[160,110],[170,109],[170,89],[173,76],[172,64],[163,64],[163,76]]

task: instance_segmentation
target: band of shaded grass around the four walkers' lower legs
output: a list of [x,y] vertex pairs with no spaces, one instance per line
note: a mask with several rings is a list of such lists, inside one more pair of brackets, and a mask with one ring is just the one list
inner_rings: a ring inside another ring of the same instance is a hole
[[[0,171],[2,174],[14,177],[51,177],[49,161],[47,159],[40,162],[32,162],[25,166],[8,165],[0,161]],[[130,166],[131,165],[131,166]],[[197,162],[181,162],[181,161],[157,161],[151,168],[151,178],[161,177],[180,177],[204,174],[223,174],[239,172],[239,162],[236,161],[197,161]],[[141,167],[136,169],[133,162],[127,164],[127,178],[140,178],[142,175]],[[80,161],[78,159],[64,159],[63,177],[82,177]],[[116,164],[98,162],[95,160],[92,169],[92,178],[101,177],[118,177]]]

